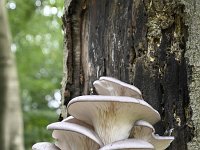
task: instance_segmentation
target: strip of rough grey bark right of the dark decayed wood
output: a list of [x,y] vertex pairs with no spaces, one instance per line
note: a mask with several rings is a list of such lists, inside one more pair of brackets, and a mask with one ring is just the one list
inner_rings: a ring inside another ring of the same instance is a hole
[[185,58],[192,69],[188,74],[188,85],[190,91],[190,107],[192,108],[192,122],[195,128],[194,138],[189,142],[188,150],[200,149],[200,1],[182,0],[187,13],[186,23],[188,25],[188,41]]

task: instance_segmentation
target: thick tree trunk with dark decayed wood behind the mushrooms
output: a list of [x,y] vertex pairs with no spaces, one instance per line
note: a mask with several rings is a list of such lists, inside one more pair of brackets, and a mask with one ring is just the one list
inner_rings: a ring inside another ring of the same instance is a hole
[[134,84],[159,111],[158,134],[174,129],[170,150],[200,149],[200,52],[190,43],[199,40],[197,7],[197,0],[66,1],[62,116],[70,99],[95,93],[93,81],[111,76]]

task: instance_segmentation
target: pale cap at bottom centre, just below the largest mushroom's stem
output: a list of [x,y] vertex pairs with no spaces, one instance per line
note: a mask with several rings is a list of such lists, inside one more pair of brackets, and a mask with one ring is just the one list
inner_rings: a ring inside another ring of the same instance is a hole
[[120,149],[131,149],[131,150],[153,150],[154,147],[152,144],[138,140],[138,139],[125,139],[121,141],[116,141],[105,145],[99,150],[120,150]]

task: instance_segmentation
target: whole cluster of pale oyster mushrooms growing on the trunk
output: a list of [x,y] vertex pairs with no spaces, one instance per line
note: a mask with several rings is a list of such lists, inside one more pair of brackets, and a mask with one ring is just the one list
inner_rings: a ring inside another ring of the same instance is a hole
[[111,77],[93,84],[99,95],[72,99],[67,106],[71,116],[47,126],[55,144],[36,143],[33,150],[164,150],[174,140],[155,134],[152,125],[160,114],[138,88]]

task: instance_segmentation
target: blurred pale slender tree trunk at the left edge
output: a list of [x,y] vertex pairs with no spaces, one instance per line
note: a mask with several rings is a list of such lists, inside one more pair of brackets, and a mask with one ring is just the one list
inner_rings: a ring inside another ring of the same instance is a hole
[[0,149],[23,150],[23,122],[5,1],[0,1]]

